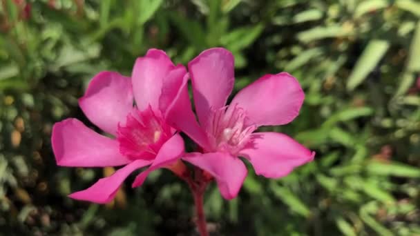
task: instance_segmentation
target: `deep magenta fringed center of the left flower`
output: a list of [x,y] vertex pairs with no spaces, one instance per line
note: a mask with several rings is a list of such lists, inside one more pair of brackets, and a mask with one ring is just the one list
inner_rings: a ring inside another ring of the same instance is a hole
[[171,127],[151,108],[144,111],[133,108],[126,124],[119,124],[117,130],[120,153],[131,159],[153,159],[169,137]]

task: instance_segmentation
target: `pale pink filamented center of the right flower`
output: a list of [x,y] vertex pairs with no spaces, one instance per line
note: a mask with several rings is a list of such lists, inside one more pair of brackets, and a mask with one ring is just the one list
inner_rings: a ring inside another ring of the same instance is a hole
[[254,124],[247,125],[248,119],[245,110],[225,106],[218,110],[212,110],[207,122],[207,135],[211,142],[212,150],[224,150],[231,154],[240,151],[249,140],[256,126]]

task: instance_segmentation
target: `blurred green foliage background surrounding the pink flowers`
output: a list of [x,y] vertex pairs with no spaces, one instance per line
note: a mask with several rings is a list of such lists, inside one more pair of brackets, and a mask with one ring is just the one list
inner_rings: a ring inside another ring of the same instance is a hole
[[[66,197],[113,168],[59,168],[51,127],[101,70],[130,75],[149,48],[187,63],[222,46],[235,91],[287,71],[306,94],[285,132],[316,159],[283,179],[249,175],[205,208],[214,235],[420,235],[420,1],[1,0],[0,235],[195,235],[169,171],[115,201]],[[281,91],[279,91],[281,92]],[[262,104],[263,106],[263,104]]]

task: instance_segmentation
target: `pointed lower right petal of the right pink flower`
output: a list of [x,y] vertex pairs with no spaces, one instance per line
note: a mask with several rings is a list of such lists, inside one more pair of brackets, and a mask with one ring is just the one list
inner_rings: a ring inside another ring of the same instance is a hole
[[278,132],[256,132],[249,145],[240,151],[249,159],[257,175],[279,178],[289,175],[294,168],[314,159],[311,152],[297,141]]

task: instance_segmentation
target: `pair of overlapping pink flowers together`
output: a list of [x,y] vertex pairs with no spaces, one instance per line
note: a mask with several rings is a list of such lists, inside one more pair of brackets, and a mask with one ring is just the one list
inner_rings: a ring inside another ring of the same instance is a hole
[[[234,81],[233,55],[224,48],[205,50],[188,63],[188,72],[155,49],[135,61],[131,77],[99,72],[79,106],[108,135],[77,119],[58,122],[52,136],[55,159],[59,166],[123,167],[70,197],[104,204],[133,171],[148,166],[135,178],[132,186],[137,187],[158,168],[182,175],[187,161],[214,177],[222,196],[232,199],[247,176],[239,157],[268,178],[283,177],[312,161],[314,152],[291,137],[255,132],[260,126],[287,124],[298,115],[305,97],[298,81],[286,72],[265,75],[227,105]],[[195,141],[197,152],[185,153],[179,132]]]

